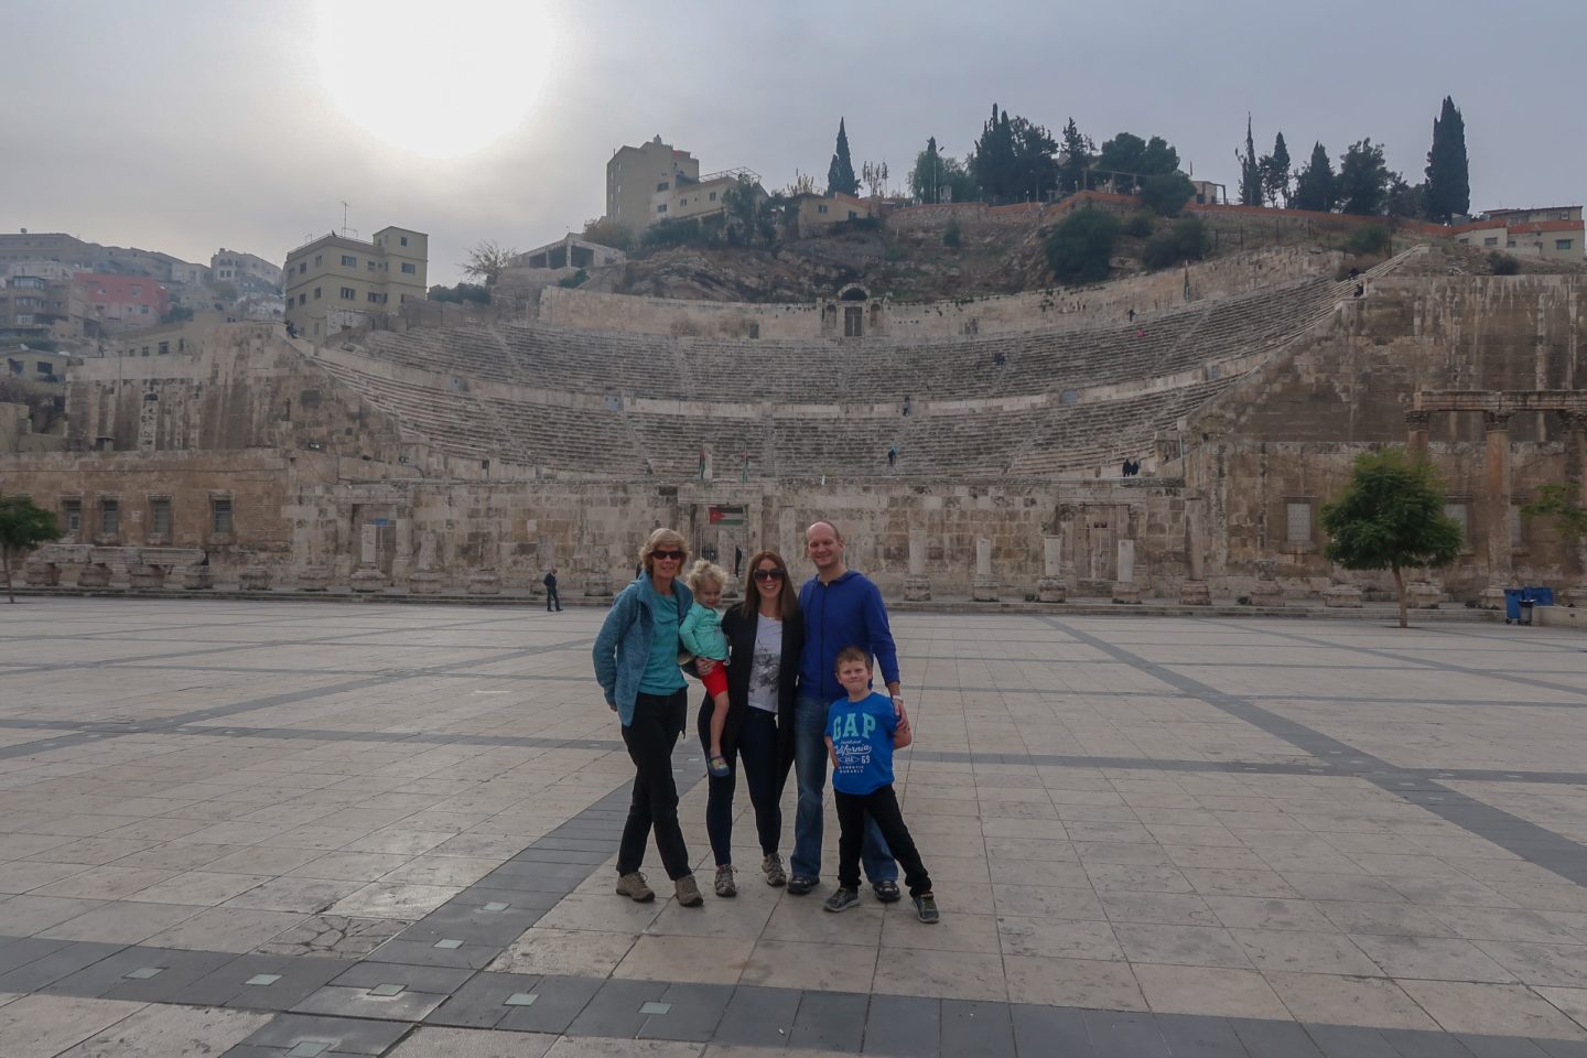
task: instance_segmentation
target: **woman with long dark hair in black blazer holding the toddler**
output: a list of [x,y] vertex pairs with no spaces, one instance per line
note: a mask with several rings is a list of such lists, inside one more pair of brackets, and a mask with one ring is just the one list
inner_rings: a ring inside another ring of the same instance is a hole
[[[767,885],[786,885],[787,871],[778,853],[782,834],[782,784],[794,765],[794,680],[805,649],[805,620],[787,563],[774,550],[749,560],[744,604],[722,615],[727,636],[727,725],[722,757],[732,771],[709,782],[705,826],[716,853],[716,895],[736,896],[733,882],[733,787],[735,758],[744,765],[749,801],[760,836],[760,869]],[[703,658],[697,665],[708,665]],[[711,752],[711,698],[700,703],[700,744]]]

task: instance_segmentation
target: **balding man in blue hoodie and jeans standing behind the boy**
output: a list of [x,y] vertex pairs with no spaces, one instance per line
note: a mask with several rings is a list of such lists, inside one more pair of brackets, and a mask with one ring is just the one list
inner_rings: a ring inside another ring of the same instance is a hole
[[[805,614],[805,650],[800,654],[794,714],[798,809],[794,815],[794,855],[789,857],[789,893],[795,896],[811,891],[820,880],[827,707],[847,695],[835,674],[838,650],[860,647],[876,657],[898,711],[898,725],[909,725],[898,693],[898,650],[887,627],[881,590],[863,574],[843,565],[843,536],[832,522],[816,522],[805,531],[805,554],[816,565],[816,576],[798,593],[800,611]],[[874,820],[867,823],[860,863],[879,901],[898,899],[898,864]]]

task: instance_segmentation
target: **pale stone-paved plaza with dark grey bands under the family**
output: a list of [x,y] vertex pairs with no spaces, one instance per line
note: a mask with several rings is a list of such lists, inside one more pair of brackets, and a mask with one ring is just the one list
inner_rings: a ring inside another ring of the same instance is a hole
[[0,1056],[1587,1056],[1579,633],[898,614],[925,926],[613,895],[601,615],[0,606]]

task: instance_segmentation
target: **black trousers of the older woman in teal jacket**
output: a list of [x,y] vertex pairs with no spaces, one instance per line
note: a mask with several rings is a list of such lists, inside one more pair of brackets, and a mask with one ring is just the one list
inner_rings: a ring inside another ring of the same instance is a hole
[[617,874],[640,869],[651,830],[655,830],[655,850],[662,853],[667,877],[694,872],[678,825],[678,784],[673,782],[673,746],[684,733],[687,715],[689,692],[681,688],[671,695],[641,693],[633,703],[633,723],[622,730],[635,768],[633,799],[617,847]]

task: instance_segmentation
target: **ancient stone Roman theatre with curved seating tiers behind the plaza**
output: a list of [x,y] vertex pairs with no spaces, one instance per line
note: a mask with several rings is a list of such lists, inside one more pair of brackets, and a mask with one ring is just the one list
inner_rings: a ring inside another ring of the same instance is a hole
[[797,557],[825,517],[898,596],[1349,604],[1387,574],[1330,568],[1317,514],[1409,412],[1471,541],[1424,601],[1579,581],[1582,555],[1511,511],[1581,479],[1584,281],[1412,251],[1354,298],[1336,266],[1284,251],[941,306],[833,292],[836,325],[827,298],[576,292],[330,346],[241,324],[75,366],[68,450],[0,455],[0,487],[76,514],[38,584],[489,595],[555,565],[598,596],[657,525],[732,566]]

